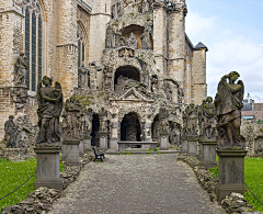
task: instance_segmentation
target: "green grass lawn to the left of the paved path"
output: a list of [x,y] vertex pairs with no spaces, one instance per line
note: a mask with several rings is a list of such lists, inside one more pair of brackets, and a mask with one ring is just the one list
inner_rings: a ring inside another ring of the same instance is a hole
[[[59,162],[59,170],[64,165]],[[0,199],[25,182],[36,170],[36,158],[25,161],[9,161],[0,159]],[[34,174],[22,188],[0,201],[1,207],[11,206],[26,199],[26,195],[34,190],[33,183],[36,180]]]

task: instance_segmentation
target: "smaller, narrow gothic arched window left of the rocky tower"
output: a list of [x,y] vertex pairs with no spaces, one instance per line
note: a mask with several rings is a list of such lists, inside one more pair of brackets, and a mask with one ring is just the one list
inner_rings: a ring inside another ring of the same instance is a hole
[[77,38],[78,38],[78,50],[79,50],[78,67],[81,67],[82,64],[85,63],[85,40],[84,40],[84,32],[81,29],[79,23],[78,23]]

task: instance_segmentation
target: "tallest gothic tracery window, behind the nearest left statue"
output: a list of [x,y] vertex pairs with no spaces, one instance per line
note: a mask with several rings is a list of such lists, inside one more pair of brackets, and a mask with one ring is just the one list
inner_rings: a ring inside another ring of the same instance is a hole
[[43,13],[38,0],[23,0],[25,16],[24,52],[27,58],[25,83],[30,90],[36,91],[42,80],[43,64]]

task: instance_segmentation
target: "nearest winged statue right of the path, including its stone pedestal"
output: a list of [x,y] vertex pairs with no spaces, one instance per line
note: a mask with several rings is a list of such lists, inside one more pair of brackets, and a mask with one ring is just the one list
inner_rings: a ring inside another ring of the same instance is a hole
[[219,183],[216,187],[218,199],[224,199],[231,192],[245,191],[242,179],[248,151],[240,137],[244,85],[242,80],[236,83],[239,77],[237,71],[225,75],[218,83],[215,99],[219,156]]

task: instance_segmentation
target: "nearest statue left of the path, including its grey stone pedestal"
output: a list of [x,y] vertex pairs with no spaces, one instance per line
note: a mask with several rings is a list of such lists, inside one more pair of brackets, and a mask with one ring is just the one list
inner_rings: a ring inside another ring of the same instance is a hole
[[[53,79],[45,76],[37,86],[39,135],[35,153],[37,157],[37,179],[35,188],[62,189],[59,179],[59,153],[61,151],[61,128],[59,116],[62,111],[62,91],[59,82],[52,87]],[[44,85],[44,87],[42,86]]]

